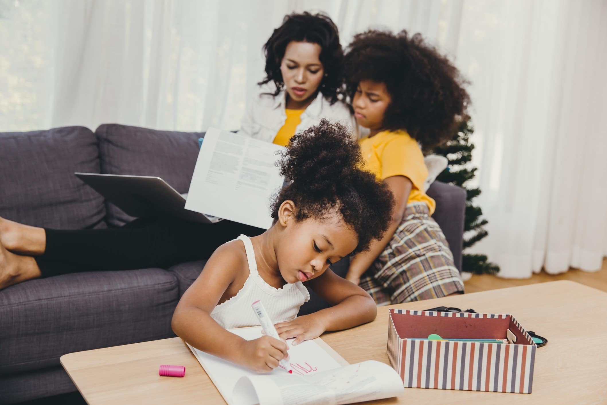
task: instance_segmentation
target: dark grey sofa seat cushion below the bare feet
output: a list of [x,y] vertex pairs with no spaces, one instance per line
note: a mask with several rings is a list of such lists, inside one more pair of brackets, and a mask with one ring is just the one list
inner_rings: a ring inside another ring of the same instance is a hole
[[174,274],[158,268],[35,279],[0,290],[0,376],[81,350],[175,336]]

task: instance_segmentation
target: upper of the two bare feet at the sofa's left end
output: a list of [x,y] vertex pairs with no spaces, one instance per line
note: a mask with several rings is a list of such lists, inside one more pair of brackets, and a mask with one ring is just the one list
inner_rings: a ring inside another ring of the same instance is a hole
[[0,217],[0,243],[13,253],[37,256],[46,250],[46,231]]

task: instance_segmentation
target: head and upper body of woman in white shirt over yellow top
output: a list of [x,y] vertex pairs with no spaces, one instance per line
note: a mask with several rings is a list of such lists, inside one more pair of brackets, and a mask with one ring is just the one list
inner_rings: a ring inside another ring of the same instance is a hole
[[328,16],[285,16],[263,50],[266,78],[258,83],[262,89],[249,104],[239,134],[285,146],[294,134],[326,118],[350,127],[358,138],[356,120],[338,101],[344,52]]

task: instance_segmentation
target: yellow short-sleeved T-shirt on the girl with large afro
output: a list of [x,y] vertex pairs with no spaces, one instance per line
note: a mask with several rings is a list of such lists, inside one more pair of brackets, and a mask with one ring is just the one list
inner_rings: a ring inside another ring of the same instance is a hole
[[407,177],[413,183],[407,203],[426,203],[430,215],[434,213],[436,202],[424,192],[428,169],[415,139],[405,131],[382,131],[359,142],[365,159],[364,169],[381,180],[395,175]]

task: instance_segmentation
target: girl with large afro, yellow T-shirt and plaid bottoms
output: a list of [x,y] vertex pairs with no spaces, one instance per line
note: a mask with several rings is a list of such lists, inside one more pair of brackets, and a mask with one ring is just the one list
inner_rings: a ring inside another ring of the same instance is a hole
[[463,293],[443,232],[430,217],[422,148],[448,140],[466,115],[464,81],[447,58],[406,31],[371,30],[354,36],[344,76],[362,138],[365,168],[395,196],[388,231],[350,263],[347,279],[378,305]]

